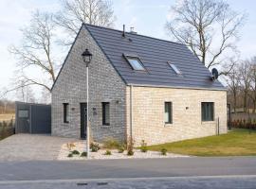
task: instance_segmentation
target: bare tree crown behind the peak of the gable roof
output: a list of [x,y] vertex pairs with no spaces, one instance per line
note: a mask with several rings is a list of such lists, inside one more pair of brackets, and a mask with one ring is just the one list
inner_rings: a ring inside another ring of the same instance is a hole
[[112,2],[107,0],[63,0],[63,9],[55,16],[69,36],[64,44],[70,44],[82,23],[111,27],[115,19]]

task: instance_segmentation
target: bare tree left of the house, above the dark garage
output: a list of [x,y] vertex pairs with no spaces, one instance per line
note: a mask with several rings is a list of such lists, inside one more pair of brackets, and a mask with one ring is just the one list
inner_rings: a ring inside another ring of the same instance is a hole
[[[32,15],[30,25],[22,29],[22,44],[9,47],[9,52],[17,58],[15,86],[9,91],[37,85],[50,92],[56,79],[56,61],[53,58],[54,29],[51,14],[36,11]],[[33,72],[38,73],[38,77],[32,77]]]

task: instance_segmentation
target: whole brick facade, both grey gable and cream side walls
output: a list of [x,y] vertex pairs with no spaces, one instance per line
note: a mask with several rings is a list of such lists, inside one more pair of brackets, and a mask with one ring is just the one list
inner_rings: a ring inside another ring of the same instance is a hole
[[[52,89],[52,135],[81,136],[80,103],[86,102],[86,73],[82,52],[93,54],[89,65],[89,117],[95,141],[130,134],[130,86],[114,69],[85,27],[73,44]],[[173,102],[173,124],[164,123],[164,102]],[[102,126],[101,102],[110,102],[110,126]],[[214,102],[220,133],[227,132],[227,92],[195,89],[138,87],[132,89],[133,138],[148,145],[214,135],[216,121],[201,121],[201,102]],[[70,106],[69,123],[64,123],[64,103]],[[94,111],[93,111],[94,109]]]

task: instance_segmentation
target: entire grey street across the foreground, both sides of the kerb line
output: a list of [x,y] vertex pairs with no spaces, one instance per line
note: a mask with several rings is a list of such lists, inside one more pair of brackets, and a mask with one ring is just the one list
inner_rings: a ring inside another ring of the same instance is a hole
[[255,189],[256,158],[0,163],[0,189],[188,188],[188,186],[199,189]]

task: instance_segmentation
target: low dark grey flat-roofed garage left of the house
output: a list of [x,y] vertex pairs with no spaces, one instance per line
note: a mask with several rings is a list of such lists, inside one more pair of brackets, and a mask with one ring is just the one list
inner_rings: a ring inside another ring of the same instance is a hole
[[15,133],[51,133],[50,105],[15,102],[15,112]]

